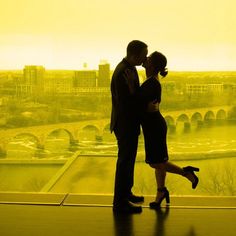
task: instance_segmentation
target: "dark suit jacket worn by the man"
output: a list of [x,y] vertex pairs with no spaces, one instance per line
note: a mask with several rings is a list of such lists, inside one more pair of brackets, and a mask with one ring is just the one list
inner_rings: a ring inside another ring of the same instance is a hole
[[[132,78],[125,76],[129,71]],[[132,93],[129,84],[132,83]],[[116,67],[111,80],[112,112],[110,130],[117,137],[139,135],[140,119],[138,112],[137,92],[139,78],[137,70],[124,58]]]

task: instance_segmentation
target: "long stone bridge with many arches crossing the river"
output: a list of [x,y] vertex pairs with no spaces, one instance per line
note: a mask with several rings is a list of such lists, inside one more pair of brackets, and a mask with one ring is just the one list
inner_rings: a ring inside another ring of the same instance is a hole
[[[189,109],[181,111],[163,112],[163,116],[167,125],[172,130],[178,123],[184,124],[184,127],[191,125],[201,125],[204,122],[212,122],[215,120],[227,120],[230,107],[213,107],[201,109]],[[32,137],[37,145],[37,148],[44,148],[45,141],[50,134],[58,130],[64,130],[69,137],[70,143],[78,143],[81,132],[93,130],[97,140],[102,140],[104,132],[109,132],[109,119],[86,120],[73,123],[60,123],[44,126],[32,126],[16,129],[0,130],[0,152],[5,153],[6,147],[19,135],[27,135]]]

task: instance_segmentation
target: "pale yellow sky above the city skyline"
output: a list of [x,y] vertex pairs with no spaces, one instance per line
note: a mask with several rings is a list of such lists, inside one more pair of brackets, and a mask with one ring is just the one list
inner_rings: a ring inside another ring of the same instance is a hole
[[236,70],[235,0],[0,0],[0,69],[114,67],[127,43],[170,70]]

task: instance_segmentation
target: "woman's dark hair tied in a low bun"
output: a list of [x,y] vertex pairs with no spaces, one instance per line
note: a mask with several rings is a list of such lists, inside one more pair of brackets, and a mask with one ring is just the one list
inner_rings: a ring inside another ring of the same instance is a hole
[[150,58],[155,72],[165,77],[168,74],[166,57],[162,53],[155,51],[150,55]]

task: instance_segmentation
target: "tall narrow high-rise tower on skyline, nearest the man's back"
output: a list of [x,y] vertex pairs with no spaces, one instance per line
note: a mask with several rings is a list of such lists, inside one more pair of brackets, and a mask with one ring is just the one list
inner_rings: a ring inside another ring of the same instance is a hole
[[110,86],[110,64],[106,61],[100,62],[98,66],[98,87],[109,87]]

